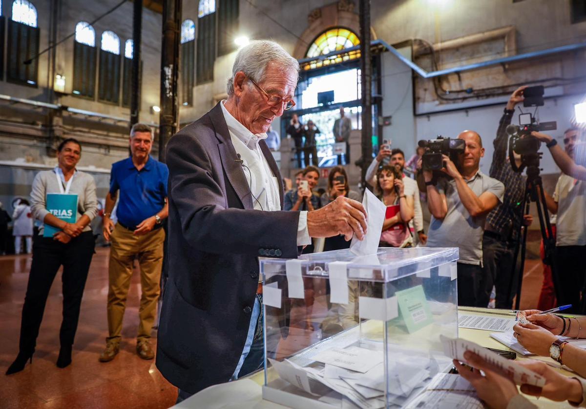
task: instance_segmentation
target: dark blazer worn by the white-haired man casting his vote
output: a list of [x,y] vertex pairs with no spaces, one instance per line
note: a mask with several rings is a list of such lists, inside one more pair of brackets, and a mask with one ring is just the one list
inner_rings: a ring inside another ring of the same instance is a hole
[[[280,183],[282,208],[281,174],[264,140],[260,147]],[[220,104],[169,140],[166,159],[169,279],[156,366],[173,385],[196,393],[234,373],[254,305],[258,256],[297,257],[299,212],[253,209]]]

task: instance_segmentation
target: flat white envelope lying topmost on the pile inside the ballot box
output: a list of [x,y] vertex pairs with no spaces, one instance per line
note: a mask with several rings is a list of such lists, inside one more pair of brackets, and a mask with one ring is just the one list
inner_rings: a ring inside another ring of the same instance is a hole
[[349,346],[348,348],[332,348],[312,356],[312,359],[350,369],[356,372],[368,372],[383,362],[383,354],[374,350]]

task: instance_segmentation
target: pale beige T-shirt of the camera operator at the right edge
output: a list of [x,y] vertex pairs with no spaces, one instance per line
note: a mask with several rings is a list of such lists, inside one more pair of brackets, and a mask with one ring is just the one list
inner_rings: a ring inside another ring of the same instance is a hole
[[557,208],[557,246],[586,245],[586,182],[562,174],[553,200]]

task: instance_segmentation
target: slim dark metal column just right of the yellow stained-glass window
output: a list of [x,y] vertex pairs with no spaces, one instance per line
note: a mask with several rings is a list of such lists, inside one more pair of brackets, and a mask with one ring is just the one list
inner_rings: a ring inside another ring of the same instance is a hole
[[360,181],[366,188],[366,169],[372,161],[372,65],[370,61],[370,0],[360,0],[360,76],[362,78],[362,160]]

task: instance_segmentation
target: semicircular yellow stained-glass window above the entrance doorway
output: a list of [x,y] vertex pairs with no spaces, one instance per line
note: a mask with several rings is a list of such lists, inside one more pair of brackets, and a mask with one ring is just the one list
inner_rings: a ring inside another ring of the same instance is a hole
[[[333,53],[334,51],[343,51],[351,47],[355,47],[360,44],[360,39],[356,33],[345,28],[329,29],[321,33],[314,42],[309,46],[306,57],[318,57],[325,54]],[[347,53],[340,53],[337,56],[328,57],[328,59],[319,61],[316,60],[310,64],[304,66],[305,70],[311,70],[312,68],[319,68],[322,66],[328,66],[332,64],[341,63],[342,61],[348,61],[357,59],[360,57],[360,50],[349,51]]]

